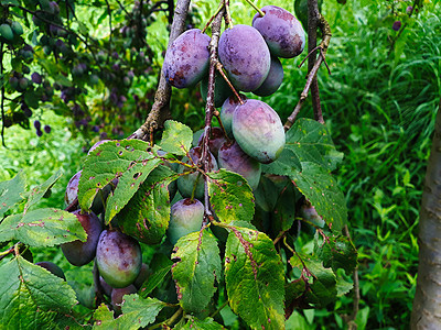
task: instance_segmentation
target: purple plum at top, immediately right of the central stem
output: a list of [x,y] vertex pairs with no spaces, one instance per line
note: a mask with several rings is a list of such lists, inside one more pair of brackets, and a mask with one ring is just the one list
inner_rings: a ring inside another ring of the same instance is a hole
[[260,87],[268,76],[271,57],[261,34],[248,25],[235,25],[220,35],[218,55],[233,85],[243,91]]

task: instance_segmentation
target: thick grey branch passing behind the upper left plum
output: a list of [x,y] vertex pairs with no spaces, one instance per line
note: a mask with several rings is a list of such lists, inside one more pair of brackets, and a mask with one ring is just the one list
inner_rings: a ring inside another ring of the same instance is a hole
[[[184,31],[189,6],[190,0],[178,0],[168,48],[173,43],[173,41]],[[161,69],[161,77],[159,79],[159,86],[154,95],[154,102],[150,110],[150,113],[147,117],[146,122],[128,139],[139,139],[144,141],[150,139],[150,134],[153,133],[153,130],[158,129],[158,127],[162,124],[163,119],[161,118],[161,116],[165,117],[163,114],[169,110],[171,94],[172,89],[166,82],[164,74]]]

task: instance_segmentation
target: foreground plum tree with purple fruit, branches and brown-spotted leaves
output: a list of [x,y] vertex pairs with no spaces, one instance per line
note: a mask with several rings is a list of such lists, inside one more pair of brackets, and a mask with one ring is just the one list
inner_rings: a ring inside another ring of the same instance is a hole
[[[305,46],[295,16],[266,6],[256,8],[252,26],[233,25],[228,1],[220,1],[205,28],[184,32],[189,4],[176,3],[146,123],[129,139],[89,151],[66,189],[65,210],[37,207],[58,173],[28,193],[21,174],[0,184],[6,328],[283,329],[294,309],[325,307],[352,289],[357,254],[331,174],[342,155],[323,125],[316,84],[331,32],[316,1],[309,1],[310,72],[284,125],[269,105],[239,92],[277,92],[278,57],[298,56]],[[39,6],[45,12],[54,4]],[[80,76],[88,66],[74,69]],[[172,86],[194,88],[200,80],[206,84],[202,135],[162,119]],[[310,88],[315,120],[297,119]],[[162,138],[154,139],[160,128]],[[312,251],[302,249],[301,234]],[[157,251],[148,264],[146,244]],[[53,274],[56,267],[32,263],[32,249],[53,245],[76,266],[95,256],[88,301]],[[93,311],[79,314],[77,300]]]

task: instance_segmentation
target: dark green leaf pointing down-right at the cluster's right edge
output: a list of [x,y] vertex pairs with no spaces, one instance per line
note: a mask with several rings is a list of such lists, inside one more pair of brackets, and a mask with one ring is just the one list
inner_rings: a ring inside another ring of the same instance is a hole
[[340,232],[346,223],[347,208],[334,177],[314,163],[302,163],[302,172],[291,174],[290,178],[326,224]]

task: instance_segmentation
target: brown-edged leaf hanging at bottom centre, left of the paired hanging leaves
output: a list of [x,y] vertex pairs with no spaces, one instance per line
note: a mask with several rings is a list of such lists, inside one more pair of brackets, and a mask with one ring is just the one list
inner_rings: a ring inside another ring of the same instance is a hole
[[178,260],[172,274],[182,308],[187,312],[201,312],[216,292],[214,284],[220,276],[215,237],[203,229],[181,238],[172,258]]

